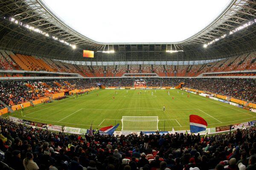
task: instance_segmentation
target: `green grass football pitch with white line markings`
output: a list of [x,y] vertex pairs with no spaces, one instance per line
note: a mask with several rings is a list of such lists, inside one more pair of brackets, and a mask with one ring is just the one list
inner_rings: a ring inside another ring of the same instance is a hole
[[[140,91],[141,94],[138,94]],[[163,105],[166,111],[163,111]],[[186,130],[189,129],[190,114],[203,117],[208,127],[256,119],[253,112],[195,94],[190,94],[188,98],[187,93],[180,90],[98,90],[76,99],[69,96],[67,99],[35,105],[35,108],[25,108],[23,113],[18,110],[10,116],[81,128],[90,128],[93,121],[94,129],[120,123],[117,130],[122,129],[122,116],[158,116],[159,130],[172,130],[172,127]]]

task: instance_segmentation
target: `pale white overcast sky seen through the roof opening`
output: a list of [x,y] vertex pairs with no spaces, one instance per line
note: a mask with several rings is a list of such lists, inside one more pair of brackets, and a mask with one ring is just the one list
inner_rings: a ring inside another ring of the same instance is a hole
[[211,23],[230,0],[43,0],[97,42],[179,42]]

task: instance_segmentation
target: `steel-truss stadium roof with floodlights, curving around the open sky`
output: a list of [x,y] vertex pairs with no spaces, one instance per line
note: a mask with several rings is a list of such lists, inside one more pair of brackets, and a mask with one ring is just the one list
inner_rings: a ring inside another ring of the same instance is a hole
[[[99,43],[68,26],[41,0],[0,0],[0,13],[0,48],[55,59],[87,60],[81,56],[82,49],[115,51],[114,54],[99,52],[94,59],[90,59],[102,61],[216,59],[256,49],[255,24],[249,24],[250,26],[230,34],[230,31],[255,20],[254,0],[230,1],[224,11],[208,26],[192,37],[175,43]],[[49,36],[10,22],[10,18],[38,28]],[[102,31],[104,32],[104,28]],[[53,37],[58,37],[62,42],[56,41]],[[208,45],[207,48],[203,47],[204,44],[212,41],[216,42]],[[72,49],[67,44],[76,45],[76,49]],[[183,52],[166,53],[166,51]]]

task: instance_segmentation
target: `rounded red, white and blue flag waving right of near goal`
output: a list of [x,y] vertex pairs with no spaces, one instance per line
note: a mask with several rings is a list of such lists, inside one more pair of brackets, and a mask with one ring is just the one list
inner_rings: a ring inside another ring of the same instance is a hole
[[206,130],[207,122],[200,116],[190,115],[189,122],[190,122],[190,132],[191,133],[198,133],[198,132]]

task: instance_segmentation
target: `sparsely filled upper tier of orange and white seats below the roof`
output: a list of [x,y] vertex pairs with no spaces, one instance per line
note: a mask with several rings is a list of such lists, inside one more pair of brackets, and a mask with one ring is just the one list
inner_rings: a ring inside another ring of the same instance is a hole
[[[256,69],[255,52],[198,65],[76,65],[45,57],[14,54],[0,51],[0,66],[3,70],[50,71],[77,73],[83,77],[121,77],[129,73],[151,73],[160,77],[196,77],[202,73],[241,71]],[[166,73],[165,73],[166,71]],[[176,74],[175,74],[176,71]],[[10,76],[7,75],[6,76]],[[19,76],[19,75],[17,75]],[[244,76],[244,74],[241,74]]]

